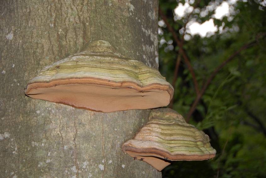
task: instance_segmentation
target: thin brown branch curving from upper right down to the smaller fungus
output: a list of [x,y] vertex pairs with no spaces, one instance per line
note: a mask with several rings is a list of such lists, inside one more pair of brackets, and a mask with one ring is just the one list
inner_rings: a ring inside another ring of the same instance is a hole
[[199,95],[197,95],[195,101],[193,102],[187,116],[186,116],[186,121],[189,122],[191,115],[193,114],[193,112],[195,111],[197,104],[199,102],[199,100],[201,99],[202,95],[204,94],[204,92],[206,91],[207,87],[209,86],[209,84],[211,83],[211,81],[213,80],[213,78],[215,77],[215,75],[219,72],[220,69],[222,69],[222,67],[224,67],[227,63],[229,63],[231,60],[233,60],[241,51],[252,47],[253,45],[257,44],[257,40],[247,43],[245,45],[243,45],[238,51],[236,51],[234,54],[232,54],[229,58],[227,58],[221,65],[219,65],[214,71],[213,73],[210,75],[210,77],[208,78],[207,82],[203,85],[201,92]]

